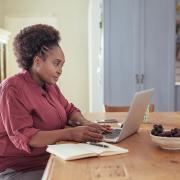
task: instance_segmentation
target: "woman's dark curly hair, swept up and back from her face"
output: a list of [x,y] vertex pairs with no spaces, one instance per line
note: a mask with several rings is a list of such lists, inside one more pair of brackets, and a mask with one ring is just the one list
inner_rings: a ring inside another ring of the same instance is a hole
[[14,38],[14,54],[19,67],[29,70],[38,53],[45,57],[46,51],[59,46],[59,32],[52,26],[36,24],[25,27]]

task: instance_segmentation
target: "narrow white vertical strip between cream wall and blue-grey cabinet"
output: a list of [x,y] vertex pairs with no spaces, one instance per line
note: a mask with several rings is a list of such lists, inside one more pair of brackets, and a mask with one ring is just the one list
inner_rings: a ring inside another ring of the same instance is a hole
[[104,110],[103,0],[89,1],[89,110]]

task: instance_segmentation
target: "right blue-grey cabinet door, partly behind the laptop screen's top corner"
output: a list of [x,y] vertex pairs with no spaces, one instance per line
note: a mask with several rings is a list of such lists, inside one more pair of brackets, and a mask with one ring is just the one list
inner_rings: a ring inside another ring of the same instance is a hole
[[157,111],[174,110],[175,1],[144,1],[144,52],[142,88],[154,87]]

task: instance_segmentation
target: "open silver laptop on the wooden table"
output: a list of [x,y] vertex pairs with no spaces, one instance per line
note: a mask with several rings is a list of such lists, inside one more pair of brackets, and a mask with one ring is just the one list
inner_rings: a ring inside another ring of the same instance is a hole
[[154,89],[147,89],[136,92],[121,128],[113,128],[111,133],[104,134],[103,141],[117,143],[136,133],[144,119],[153,91]]

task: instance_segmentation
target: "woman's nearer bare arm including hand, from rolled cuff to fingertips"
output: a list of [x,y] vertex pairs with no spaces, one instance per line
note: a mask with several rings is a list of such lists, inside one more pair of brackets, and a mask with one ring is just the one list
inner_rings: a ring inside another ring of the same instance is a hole
[[77,126],[66,129],[39,131],[31,137],[29,146],[44,147],[58,141],[102,141],[102,130],[93,126]]

